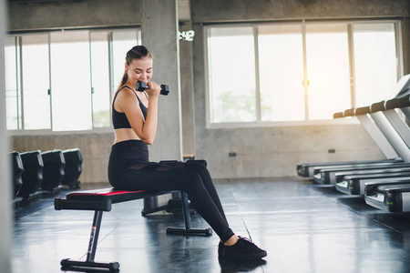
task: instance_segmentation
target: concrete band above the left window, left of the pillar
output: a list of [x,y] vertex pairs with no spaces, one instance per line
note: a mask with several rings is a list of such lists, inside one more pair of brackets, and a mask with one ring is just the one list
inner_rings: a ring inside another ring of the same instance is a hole
[[10,30],[141,24],[141,1],[139,0],[25,2],[28,1],[9,3]]

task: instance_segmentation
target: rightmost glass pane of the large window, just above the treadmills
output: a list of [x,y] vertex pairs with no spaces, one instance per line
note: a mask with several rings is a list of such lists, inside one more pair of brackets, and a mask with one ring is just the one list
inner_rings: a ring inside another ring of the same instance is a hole
[[354,25],[354,74],[356,106],[396,95],[394,24]]

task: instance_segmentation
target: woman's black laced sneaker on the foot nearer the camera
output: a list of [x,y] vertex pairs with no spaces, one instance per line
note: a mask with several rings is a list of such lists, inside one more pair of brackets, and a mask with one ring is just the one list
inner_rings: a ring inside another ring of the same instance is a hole
[[232,246],[225,246],[222,251],[223,258],[253,260],[266,257],[265,250],[258,248],[248,238],[239,237],[239,240]]

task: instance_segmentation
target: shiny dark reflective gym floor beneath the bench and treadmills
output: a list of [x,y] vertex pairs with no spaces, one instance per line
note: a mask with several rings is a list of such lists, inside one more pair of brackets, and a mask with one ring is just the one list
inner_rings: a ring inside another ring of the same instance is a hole
[[[120,272],[410,271],[409,214],[386,213],[366,205],[364,197],[299,177],[216,186],[232,229],[267,250],[267,258],[219,261],[216,234],[168,236],[166,227],[182,227],[182,218],[141,217],[143,200],[135,200],[104,213],[96,261],[118,261]],[[93,212],[56,211],[54,198],[66,193],[15,207],[15,273],[61,272],[62,258],[85,258]],[[194,215],[192,227],[209,226]]]

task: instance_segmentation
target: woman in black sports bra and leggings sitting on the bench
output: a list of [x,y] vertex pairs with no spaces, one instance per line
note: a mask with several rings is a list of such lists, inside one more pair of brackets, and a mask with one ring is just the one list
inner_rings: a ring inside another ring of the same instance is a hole
[[[200,216],[220,237],[220,258],[265,257],[266,251],[236,236],[229,227],[206,167],[195,163],[162,165],[149,162],[148,145],[154,142],[157,133],[161,89],[150,81],[153,68],[149,50],[143,45],[129,50],[125,70],[112,103],[115,143],[108,163],[109,183],[124,190],[183,190]],[[136,91],[137,81],[145,82],[149,89]]]

